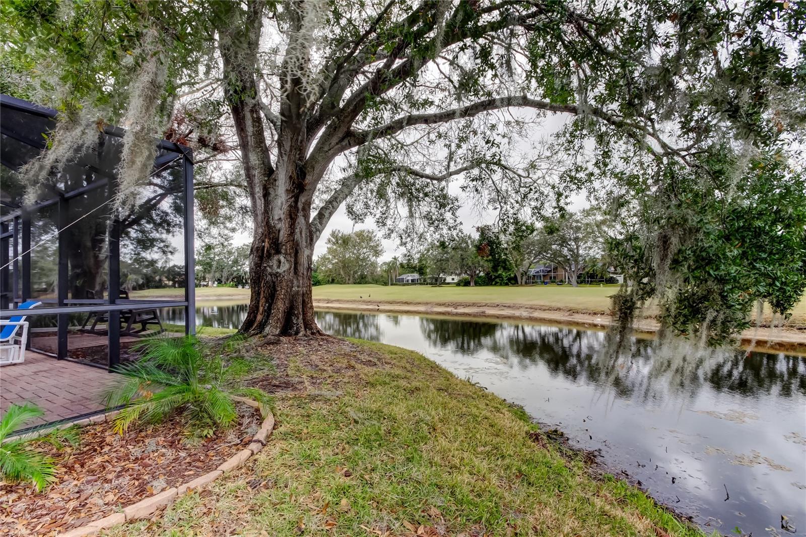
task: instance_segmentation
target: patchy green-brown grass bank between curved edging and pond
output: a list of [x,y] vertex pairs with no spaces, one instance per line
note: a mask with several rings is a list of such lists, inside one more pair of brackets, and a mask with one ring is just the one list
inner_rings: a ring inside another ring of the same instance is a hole
[[292,357],[302,391],[277,396],[256,460],[127,535],[701,535],[589,477],[522,410],[417,353],[356,343]]

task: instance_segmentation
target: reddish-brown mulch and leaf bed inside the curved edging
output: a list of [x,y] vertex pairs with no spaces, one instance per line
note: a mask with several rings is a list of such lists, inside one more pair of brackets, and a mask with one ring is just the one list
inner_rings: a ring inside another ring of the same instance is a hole
[[56,460],[56,481],[43,493],[30,484],[0,483],[0,534],[56,535],[201,477],[247,446],[260,412],[237,405],[239,423],[200,443],[189,443],[180,418],[132,427],[116,435],[110,423],[81,428],[81,443]]

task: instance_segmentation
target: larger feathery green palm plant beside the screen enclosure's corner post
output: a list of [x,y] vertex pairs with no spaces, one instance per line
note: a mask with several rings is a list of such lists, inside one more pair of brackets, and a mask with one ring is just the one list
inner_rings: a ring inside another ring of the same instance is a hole
[[142,349],[139,360],[118,368],[123,381],[106,395],[107,408],[125,405],[114,418],[118,434],[132,423],[160,422],[181,410],[191,427],[210,435],[214,427],[235,423],[233,396],[269,400],[263,390],[235,386],[251,370],[249,360],[225,361],[192,335],[152,338]]

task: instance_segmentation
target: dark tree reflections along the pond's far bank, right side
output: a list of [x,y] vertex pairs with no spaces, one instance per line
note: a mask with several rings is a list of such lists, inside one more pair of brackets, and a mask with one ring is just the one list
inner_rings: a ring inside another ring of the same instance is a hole
[[422,335],[437,347],[463,354],[486,351],[528,369],[543,364],[552,375],[596,385],[617,398],[663,399],[693,397],[705,385],[717,391],[752,396],[777,390],[780,397],[806,393],[806,358],[760,352],[713,352],[681,360],[669,354],[686,352],[652,341],[634,340],[615,364],[601,360],[605,334],[566,327],[520,323],[484,323],[421,317]]

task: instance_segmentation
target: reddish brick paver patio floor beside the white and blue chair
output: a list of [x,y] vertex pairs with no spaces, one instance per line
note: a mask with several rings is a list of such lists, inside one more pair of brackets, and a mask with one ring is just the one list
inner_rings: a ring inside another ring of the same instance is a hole
[[11,403],[32,402],[45,412],[39,423],[49,423],[103,410],[103,394],[114,377],[103,369],[28,351],[23,364],[0,368],[0,411],[5,413]]

